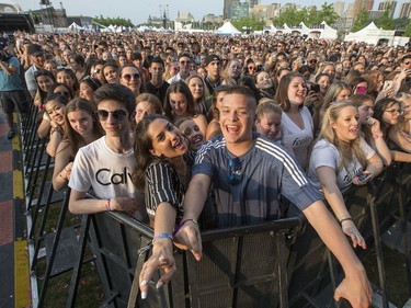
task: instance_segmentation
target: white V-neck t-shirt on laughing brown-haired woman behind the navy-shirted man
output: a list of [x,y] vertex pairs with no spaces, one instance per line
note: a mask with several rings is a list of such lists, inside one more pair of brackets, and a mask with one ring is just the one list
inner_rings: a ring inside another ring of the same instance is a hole
[[285,112],[282,114],[282,136],[283,145],[293,147],[299,164],[304,168],[308,158],[308,148],[313,140],[313,123],[311,114],[306,106],[299,110],[299,114],[304,121],[304,129],[299,128]]

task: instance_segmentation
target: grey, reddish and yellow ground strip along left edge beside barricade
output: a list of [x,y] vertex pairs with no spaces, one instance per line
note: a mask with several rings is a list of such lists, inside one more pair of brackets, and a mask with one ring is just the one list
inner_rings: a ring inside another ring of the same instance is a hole
[[0,308],[22,308],[31,306],[31,290],[21,142],[8,132],[0,114]]

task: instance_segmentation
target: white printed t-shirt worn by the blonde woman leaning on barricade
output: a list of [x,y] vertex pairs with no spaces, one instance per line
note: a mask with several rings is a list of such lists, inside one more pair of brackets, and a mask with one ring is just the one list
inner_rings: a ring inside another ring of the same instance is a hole
[[[361,137],[359,148],[363,150],[365,158],[370,159],[375,151]],[[319,167],[330,167],[335,170],[339,170],[341,164],[342,157],[336,149],[336,147],[324,139],[319,140],[312,149],[309,169],[308,169],[308,180],[311,182],[313,186],[318,190],[321,190],[320,181],[317,178],[316,169]],[[353,180],[353,176],[358,172],[363,171],[363,167],[361,166],[359,161],[355,156],[353,156],[353,160],[350,162],[347,169],[341,168],[341,170],[336,174],[336,185],[339,186],[341,192],[345,192]]]

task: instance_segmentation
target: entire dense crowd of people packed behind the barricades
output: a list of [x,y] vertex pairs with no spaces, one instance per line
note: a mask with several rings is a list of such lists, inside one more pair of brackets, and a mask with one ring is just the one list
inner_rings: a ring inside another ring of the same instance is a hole
[[155,271],[164,270],[158,287],[175,273],[174,244],[201,260],[201,229],[282,218],[286,199],[342,264],[335,297],[368,306],[366,273],[344,235],[366,243],[343,193],[411,161],[410,46],[15,33],[0,49],[8,137],[14,109],[35,104],[53,185],[71,189],[70,210],[123,210],[153,228],[142,298]]

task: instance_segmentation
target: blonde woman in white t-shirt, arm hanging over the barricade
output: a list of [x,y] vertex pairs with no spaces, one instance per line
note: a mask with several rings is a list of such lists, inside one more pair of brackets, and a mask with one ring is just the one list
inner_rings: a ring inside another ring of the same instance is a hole
[[365,249],[366,244],[350,216],[342,193],[352,184],[364,185],[381,170],[381,160],[359,136],[357,109],[350,102],[330,105],[311,152],[308,178],[322,191],[354,247]]

